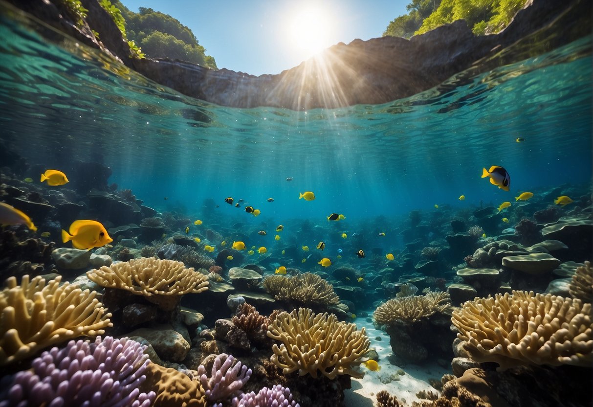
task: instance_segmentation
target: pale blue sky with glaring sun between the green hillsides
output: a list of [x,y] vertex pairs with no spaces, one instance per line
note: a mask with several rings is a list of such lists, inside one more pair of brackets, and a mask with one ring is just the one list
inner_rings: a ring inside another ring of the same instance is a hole
[[[122,0],[150,7],[190,27],[218,68],[278,74],[315,52],[315,45],[381,37],[409,0]],[[313,40],[320,39],[321,41]]]

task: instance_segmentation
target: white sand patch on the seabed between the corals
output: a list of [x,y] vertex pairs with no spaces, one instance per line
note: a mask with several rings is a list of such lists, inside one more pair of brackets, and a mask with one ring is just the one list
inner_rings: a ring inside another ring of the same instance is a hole
[[[375,348],[379,354],[379,365],[381,370],[370,371],[362,366],[365,377],[362,379],[352,379],[352,389],[345,391],[345,407],[372,407],[377,405],[377,392],[387,390],[391,395],[397,396],[398,400],[406,400],[407,405],[412,405],[413,401],[419,401],[416,393],[420,390],[436,390],[428,383],[429,379],[440,380],[445,373],[452,373],[451,369],[445,369],[436,362],[427,362],[423,365],[409,364],[403,369],[405,374],[400,376],[397,371],[400,367],[389,363],[387,358],[393,354],[389,345],[389,335],[382,330],[375,329],[371,322],[366,321],[366,317],[355,320],[358,329],[363,326],[366,329],[366,335],[371,339],[371,348]],[[380,336],[381,341],[375,338]],[[436,340],[436,338],[435,338]],[[393,378],[396,378],[393,380]],[[399,380],[397,380],[397,378]],[[384,383],[383,383],[384,382]]]

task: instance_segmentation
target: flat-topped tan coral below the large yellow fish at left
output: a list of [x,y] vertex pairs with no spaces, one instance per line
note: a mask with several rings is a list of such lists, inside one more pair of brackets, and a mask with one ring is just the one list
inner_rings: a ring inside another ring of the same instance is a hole
[[176,260],[141,257],[87,272],[91,281],[136,295],[184,295],[208,290],[208,276]]

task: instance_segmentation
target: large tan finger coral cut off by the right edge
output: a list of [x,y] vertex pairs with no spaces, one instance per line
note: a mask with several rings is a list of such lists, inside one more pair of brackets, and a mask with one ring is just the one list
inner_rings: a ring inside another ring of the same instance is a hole
[[467,301],[451,322],[478,362],[591,367],[591,304],[551,294],[513,291]]

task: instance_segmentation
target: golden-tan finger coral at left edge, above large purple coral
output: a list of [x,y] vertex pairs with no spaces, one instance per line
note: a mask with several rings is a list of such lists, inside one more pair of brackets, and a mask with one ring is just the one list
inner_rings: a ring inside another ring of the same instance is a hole
[[47,346],[79,336],[103,335],[111,314],[95,298],[58,276],[46,284],[41,276],[7,279],[0,292],[0,365],[31,357]]

